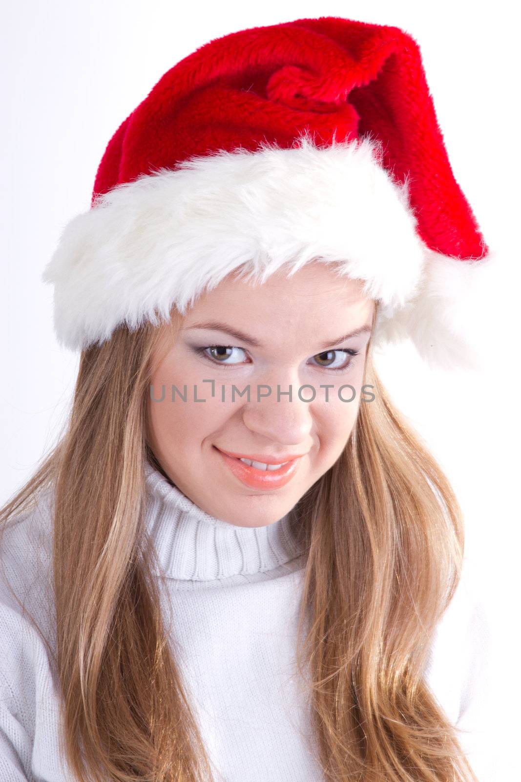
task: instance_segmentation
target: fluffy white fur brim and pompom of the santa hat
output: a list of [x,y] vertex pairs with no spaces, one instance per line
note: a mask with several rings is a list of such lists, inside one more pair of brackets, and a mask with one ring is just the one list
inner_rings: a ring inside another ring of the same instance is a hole
[[219,150],[98,196],[66,225],[43,274],[59,343],[84,350],[120,325],[159,325],[239,268],[265,282],[320,260],[380,301],[380,343],[411,336],[428,357],[445,312],[455,323],[472,262],[426,248],[407,182],[380,155],[369,138]]

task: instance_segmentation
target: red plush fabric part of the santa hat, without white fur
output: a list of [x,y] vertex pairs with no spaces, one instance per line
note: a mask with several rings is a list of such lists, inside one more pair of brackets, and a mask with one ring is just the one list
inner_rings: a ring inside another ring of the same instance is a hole
[[98,167],[95,196],[191,156],[259,143],[290,148],[369,135],[403,183],[430,249],[488,252],[448,160],[419,45],[398,27],[300,19],[216,38],[173,66],[124,120]]

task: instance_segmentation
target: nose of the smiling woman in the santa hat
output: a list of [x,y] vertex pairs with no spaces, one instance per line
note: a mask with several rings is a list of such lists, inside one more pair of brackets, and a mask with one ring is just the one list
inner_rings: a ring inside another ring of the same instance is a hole
[[[293,384],[291,388],[291,401],[284,391],[289,390],[288,386],[280,384],[280,393],[277,394],[277,384],[259,386],[259,395],[267,394],[267,389],[271,390],[268,396],[257,397],[257,389],[252,393],[251,401],[245,404],[242,411],[244,425],[251,432],[265,436],[273,443],[284,443],[284,445],[299,445],[305,441],[312,429],[312,402],[303,402],[298,396],[299,386]],[[309,396],[309,389],[304,389],[302,397]]]

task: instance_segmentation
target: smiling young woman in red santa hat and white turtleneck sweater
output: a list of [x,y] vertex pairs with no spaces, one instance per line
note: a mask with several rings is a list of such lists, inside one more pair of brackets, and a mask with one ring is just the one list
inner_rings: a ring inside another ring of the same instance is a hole
[[162,77],[45,271],[80,370],[2,511],[1,780],[476,782],[462,515],[373,346],[464,363],[490,269],[408,34]]

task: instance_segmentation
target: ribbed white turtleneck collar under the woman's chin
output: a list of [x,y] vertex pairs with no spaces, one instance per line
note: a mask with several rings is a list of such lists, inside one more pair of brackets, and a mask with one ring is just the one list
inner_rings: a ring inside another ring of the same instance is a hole
[[171,579],[253,576],[302,554],[289,514],[267,526],[237,526],[202,511],[148,461],[145,483],[148,532]]

